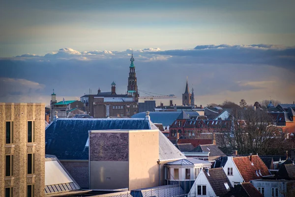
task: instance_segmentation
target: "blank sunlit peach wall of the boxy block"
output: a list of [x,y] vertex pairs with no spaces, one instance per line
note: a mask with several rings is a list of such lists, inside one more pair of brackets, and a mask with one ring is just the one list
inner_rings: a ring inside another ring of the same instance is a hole
[[129,190],[159,185],[159,132],[129,132]]

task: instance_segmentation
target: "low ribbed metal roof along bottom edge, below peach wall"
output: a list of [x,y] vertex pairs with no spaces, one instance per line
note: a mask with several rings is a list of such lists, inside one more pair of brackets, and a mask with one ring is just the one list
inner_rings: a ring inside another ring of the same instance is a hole
[[132,190],[133,197],[177,197],[184,195],[183,189],[178,185],[163,185],[159,187]]

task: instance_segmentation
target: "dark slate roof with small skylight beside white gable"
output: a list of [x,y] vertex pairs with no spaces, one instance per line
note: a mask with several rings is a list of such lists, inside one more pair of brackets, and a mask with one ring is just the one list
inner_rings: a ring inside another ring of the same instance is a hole
[[207,177],[212,189],[214,190],[216,196],[222,196],[228,192],[224,183],[227,183],[229,187],[232,187],[232,184],[225,174],[222,167],[219,168],[210,168],[207,169],[209,175],[207,174],[206,169],[203,169],[205,176]]

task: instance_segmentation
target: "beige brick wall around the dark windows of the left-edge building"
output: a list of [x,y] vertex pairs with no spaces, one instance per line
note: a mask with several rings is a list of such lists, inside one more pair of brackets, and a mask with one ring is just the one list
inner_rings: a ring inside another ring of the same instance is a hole
[[[35,197],[44,196],[45,104],[0,103],[0,196],[13,187],[14,197],[26,197],[27,185],[34,184]],[[35,142],[27,143],[28,120],[35,121]],[[5,122],[13,121],[13,144],[5,144]],[[35,173],[27,175],[27,154],[35,154]],[[13,176],[5,177],[5,155],[13,155]]]

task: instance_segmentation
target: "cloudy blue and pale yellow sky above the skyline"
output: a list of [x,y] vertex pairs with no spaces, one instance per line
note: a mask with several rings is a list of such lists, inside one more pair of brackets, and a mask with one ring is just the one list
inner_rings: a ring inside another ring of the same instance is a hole
[[[50,0],[0,4],[0,101],[50,102],[127,88],[196,104],[295,100],[295,2]],[[140,93],[141,96],[146,96]],[[169,100],[157,100],[168,104]]]

